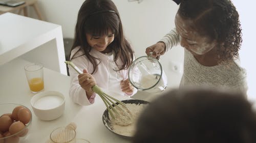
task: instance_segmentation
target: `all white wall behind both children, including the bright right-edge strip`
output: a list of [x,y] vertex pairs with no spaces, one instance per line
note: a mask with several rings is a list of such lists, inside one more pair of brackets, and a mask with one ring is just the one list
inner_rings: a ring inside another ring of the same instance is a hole
[[[144,0],[140,4],[127,0],[113,0],[116,4],[123,23],[126,38],[132,43],[136,56],[145,55],[147,46],[156,43],[171,28],[174,27],[174,16],[178,6],[171,0]],[[250,3],[248,3],[250,2]],[[63,37],[73,38],[77,12],[83,0],[38,0],[39,8],[46,21],[60,24]],[[256,52],[253,40],[255,34],[255,2],[248,0],[233,0],[237,7],[243,28],[243,44],[241,48],[242,66],[248,72],[249,98],[256,99],[256,66],[254,53]],[[254,3],[254,4],[253,4]],[[32,10],[31,10],[32,11]],[[177,87],[181,73],[173,72],[170,61],[182,70],[183,49],[178,46],[162,56],[161,63],[168,76],[168,87]]]

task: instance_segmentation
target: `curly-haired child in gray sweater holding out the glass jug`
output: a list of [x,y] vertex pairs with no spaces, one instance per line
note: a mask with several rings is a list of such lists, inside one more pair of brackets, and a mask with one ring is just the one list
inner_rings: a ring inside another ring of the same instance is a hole
[[184,72],[180,86],[210,85],[246,93],[246,71],[240,66],[241,25],[230,0],[181,0],[176,28],[147,47],[158,57],[180,43]]

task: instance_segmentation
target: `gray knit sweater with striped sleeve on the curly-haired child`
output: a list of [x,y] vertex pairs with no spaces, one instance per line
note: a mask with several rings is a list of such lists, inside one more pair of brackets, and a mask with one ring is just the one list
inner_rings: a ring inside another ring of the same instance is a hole
[[[170,31],[160,41],[166,45],[166,51],[179,44],[180,37],[176,30]],[[239,59],[229,65],[203,66],[197,62],[193,54],[184,51],[184,71],[180,87],[184,85],[208,85],[217,88],[227,88],[247,91],[246,70],[240,66]]]

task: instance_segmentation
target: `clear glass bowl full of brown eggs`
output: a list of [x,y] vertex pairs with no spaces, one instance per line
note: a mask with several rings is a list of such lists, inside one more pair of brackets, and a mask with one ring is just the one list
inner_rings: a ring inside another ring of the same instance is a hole
[[32,113],[24,105],[0,103],[0,143],[22,142],[30,129]]

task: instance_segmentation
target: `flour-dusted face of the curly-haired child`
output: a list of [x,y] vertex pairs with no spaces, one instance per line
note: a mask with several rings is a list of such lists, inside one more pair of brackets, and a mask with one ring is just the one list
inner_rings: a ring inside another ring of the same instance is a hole
[[180,45],[190,51],[193,55],[202,55],[216,47],[217,42],[201,36],[193,30],[190,25],[192,20],[184,20],[177,13],[175,17],[176,31],[180,35]]

